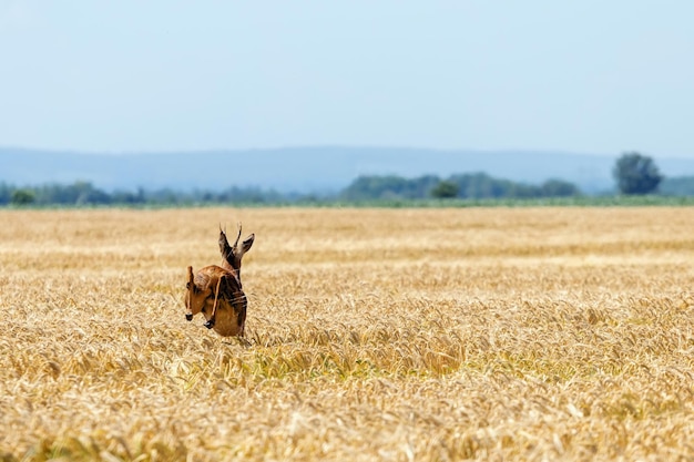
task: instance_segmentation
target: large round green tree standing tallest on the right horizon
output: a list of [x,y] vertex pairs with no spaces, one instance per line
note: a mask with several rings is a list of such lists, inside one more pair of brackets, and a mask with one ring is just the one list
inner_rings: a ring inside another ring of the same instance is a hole
[[663,179],[655,162],[637,152],[622,154],[612,174],[622,194],[653,193]]

